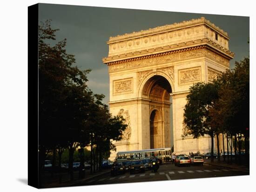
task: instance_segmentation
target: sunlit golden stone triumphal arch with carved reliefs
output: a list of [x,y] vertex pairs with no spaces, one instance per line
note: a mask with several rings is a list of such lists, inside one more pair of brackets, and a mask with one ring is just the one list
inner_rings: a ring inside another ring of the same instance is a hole
[[171,147],[172,123],[175,153],[209,152],[209,136],[182,138],[183,109],[193,83],[229,69],[234,53],[227,32],[200,18],[110,37],[107,44],[102,60],[108,64],[110,112],[128,123],[117,151]]

